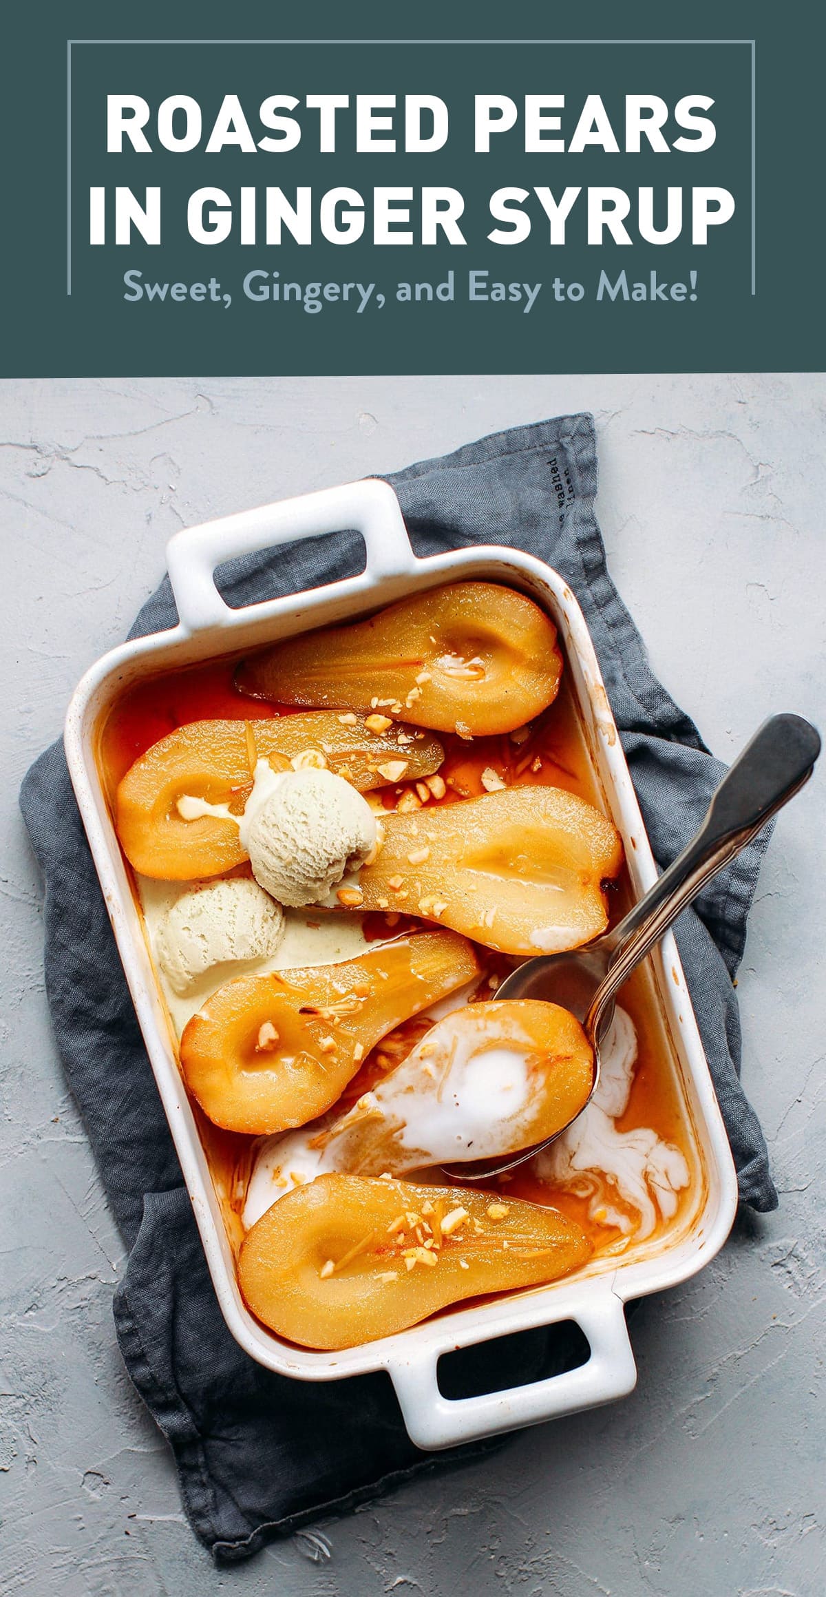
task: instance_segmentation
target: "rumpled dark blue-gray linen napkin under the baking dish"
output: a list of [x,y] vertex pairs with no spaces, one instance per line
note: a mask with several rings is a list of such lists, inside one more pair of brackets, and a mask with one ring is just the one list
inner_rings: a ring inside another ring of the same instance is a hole
[[[594,517],[596,447],[588,415],[559,417],[468,444],[387,479],[417,554],[502,543],[548,561],[577,594],[661,867],[706,810],[724,767],[652,676],[606,569]],[[275,493],[278,489],[275,489]],[[230,604],[299,592],[356,569],[336,533],[219,573]],[[169,583],[133,637],[176,623]],[[219,1563],[332,1508],[353,1506],[435,1463],[411,1445],[388,1377],[307,1385],[272,1375],[230,1337],[209,1282],[190,1203],[134,1019],[97,877],[54,744],[29,771],[22,813],[45,878],[46,992],[59,1054],[101,1177],[129,1247],[115,1324],[129,1375],[169,1439],[189,1520]],[[740,1086],[732,987],[765,835],[677,923],[677,942],[732,1143],[741,1199],[776,1207],[765,1142]],[[451,1396],[537,1380],[582,1362],[546,1332],[454,1356]]]

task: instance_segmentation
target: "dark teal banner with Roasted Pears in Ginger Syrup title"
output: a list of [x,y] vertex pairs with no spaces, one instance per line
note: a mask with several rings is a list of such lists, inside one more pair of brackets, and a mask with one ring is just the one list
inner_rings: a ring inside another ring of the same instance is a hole
[[5,374],[821,369],[821,22],[601,10],[6,24]]

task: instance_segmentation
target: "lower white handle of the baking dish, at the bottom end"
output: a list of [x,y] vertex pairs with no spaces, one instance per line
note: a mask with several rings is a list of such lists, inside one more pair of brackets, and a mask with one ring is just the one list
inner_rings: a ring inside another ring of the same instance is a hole
[[[559,1314],[542,1324],[574,1319],[585,1332],[591,1356],[577,1370],[550,1375],[546,1380],[510,1391],[484,1393],[479,1397],[443,1397],[436,1367],[443,1353],[455,1343],[430,1345],[404,1362],[390,1364],[390,1377],[404,1417],[411,1442],[422,1448],[454,1447],[479,1440],[522,1425],[556,1420],[580,1409],[596,1409],[633,1391],[637,1378],[634,1354],[628,1338],[621,1300],[610,1290],[583,1294],[574,1308],[570,1300]],[[498,1335],[506,1332],[498,1332]]]

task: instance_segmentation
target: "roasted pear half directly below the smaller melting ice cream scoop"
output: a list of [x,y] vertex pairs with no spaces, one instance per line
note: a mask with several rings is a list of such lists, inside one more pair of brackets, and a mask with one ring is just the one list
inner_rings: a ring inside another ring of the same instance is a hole
[[240,976],[184,1027],[185,1083],[227,1131],[304,1126],[387,1032],[478,974],[465,937],[422,931],[342,965]]

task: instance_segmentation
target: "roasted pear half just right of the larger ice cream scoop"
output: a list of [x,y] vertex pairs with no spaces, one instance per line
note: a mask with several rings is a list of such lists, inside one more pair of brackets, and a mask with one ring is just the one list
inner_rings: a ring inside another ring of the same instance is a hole
[[508,787],[382,821],[359,909],[399,909],[524,955],[575,949],[609,923],[602,882],[620,870],[620,835],[562,787]]

